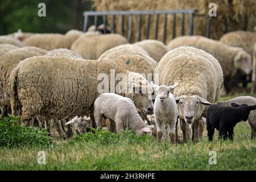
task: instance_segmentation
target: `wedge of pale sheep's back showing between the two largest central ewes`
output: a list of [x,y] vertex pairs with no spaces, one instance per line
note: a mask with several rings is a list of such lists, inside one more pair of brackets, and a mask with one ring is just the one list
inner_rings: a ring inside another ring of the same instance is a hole
[[142,40],[141,42],[134,43],[134,45],[147,51],[148,55],[156,62],[159,62],[170,51],[170,48],[159,40]]

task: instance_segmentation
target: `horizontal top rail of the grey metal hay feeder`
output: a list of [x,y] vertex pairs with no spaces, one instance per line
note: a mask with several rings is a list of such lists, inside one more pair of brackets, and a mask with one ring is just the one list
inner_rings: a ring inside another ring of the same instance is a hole
[[156,11],[84,11],[84,15],[148,15],[148,14],[195,13],[193,9],[187,10],[156,10]]

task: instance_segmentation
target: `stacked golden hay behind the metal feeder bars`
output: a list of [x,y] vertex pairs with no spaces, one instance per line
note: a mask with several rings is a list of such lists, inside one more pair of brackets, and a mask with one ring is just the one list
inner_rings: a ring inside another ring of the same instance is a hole
[[[247,15],[248,30],[253,30],[255,26],[255,12],[256,1],[251,0],[128,0],[128,1],[115,1],[115,0],[93,0],[94,6],[97,11],[119,11],[119,10],[171,10],[171,9],[195,9],[197,14],[202,16],[195,16],[194,19],[194,35],[205,35],[209,3],[216,3],[217,5],[217,17],[212,18],[210,38],[219,39],[225,30],[225,19],[229,19],[230,26],[229,31],[240,30],[244,26],[244,18]],[[118,16],[119,17],[119,16]],[[120,19],[116,18],[117,25]],[[108,22],[111,22],[112,17],[108,17]],[[151,17],[150,36],[148,39],[154,39],[154,16]],[[169,42],[172,39],[172,15],[167,16],[167,39]],[[181,15],[176,15],[176,36],[181,35]],[[128,30],[128,17],[124,19],[124,33],[127,36]],[[133,36],[131,42],[137,41],[137,24],[138,17],[134,16],[133,19]],[[170,27],[170,28],[168,28]],[[185,27],[184,33],[188,35],[189,18],[185,15]],[[146,31],[146,19],[142,16],[142,32]],[[117,26],[117,32],[120,33],[119,26]],[[146,39],[144,33],[142,33],[142,39]],[[158,40],[163,40],[163,15],[159,16],[158,26]]]

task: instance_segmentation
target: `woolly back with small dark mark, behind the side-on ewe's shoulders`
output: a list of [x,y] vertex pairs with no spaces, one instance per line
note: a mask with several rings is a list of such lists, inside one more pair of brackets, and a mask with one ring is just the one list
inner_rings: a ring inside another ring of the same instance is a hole
[[154,73],[157,64],[151,57],[143,55],[143,53],[136,51],[129,45],[109,49],[98,59],[108,61],[127,71],[144,73],[146,76],[148,73]]

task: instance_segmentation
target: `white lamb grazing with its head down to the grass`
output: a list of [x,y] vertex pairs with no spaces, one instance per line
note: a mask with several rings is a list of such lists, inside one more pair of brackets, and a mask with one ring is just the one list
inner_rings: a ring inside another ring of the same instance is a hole
[[102,93],[94,102],[94,118],[97,126],[102,127],[102,118],[110,121],[110,131],[129,129],[137,136],[150,134],[151,130],[146,127],[142,118],[130,98],[119,96],[114,93]]

